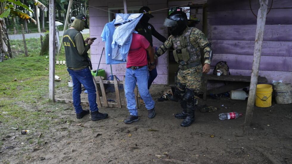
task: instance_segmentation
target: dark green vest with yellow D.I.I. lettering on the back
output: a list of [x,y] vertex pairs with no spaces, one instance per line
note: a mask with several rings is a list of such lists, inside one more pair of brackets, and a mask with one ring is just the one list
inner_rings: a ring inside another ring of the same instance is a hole
[[75,35],[78,32],[79,31],[77,31],[76,29],[68,29],[64,32],[63,35],[66,65],[69,68],[80,68],[89,64],[87,60],[87,54],[82,56],[78,53],[75,42]]

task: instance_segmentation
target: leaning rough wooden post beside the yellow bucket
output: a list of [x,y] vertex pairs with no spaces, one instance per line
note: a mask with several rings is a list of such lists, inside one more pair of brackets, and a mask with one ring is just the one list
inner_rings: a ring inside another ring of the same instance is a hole
[[259,75],[260,57],[262,52],[265,21],[268,10],[268,0],[260,0],[260,9],[257,13],[257,30],[254,43],[254,59],[252,62],[251,82],[249,86],[248,101],[246,107],[245,126],[250,126],[254,110],[255,92],[257,89],[257,78]]

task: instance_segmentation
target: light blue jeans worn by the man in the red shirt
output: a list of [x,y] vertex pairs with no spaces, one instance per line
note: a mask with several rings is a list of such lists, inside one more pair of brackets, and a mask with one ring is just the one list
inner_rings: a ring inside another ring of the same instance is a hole
[[153,109],[155,102],[153,101],[148,86],[149,72],[148,67],[144,66],[142,68],[138,68],[136,70],[132,70],[131,68],[126,68],[126,77],[125,77],[125,96],[127,99],[127,108],[130,112],[130,115],[138,116],[138,111],[136,108],[136,100],[134,89],[136,84],[138,85],[139,93],[141,98],[145,102],[145,106],[147,110]]

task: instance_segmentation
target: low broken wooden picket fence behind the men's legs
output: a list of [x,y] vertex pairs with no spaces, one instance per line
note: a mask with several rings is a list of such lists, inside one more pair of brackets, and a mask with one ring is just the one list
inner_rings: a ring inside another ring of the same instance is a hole
[[[97,88],[97,84],[100,85],[100,90],[102,93],[102,100],[100,101],[100,93],[97,89],[97,96],[96,96],[96,102],[98,107],[113,107],[113,108],[127,108],[127,101],[125,101],[125,104],[121,103],[120,93],[119,93],[119,84],[122,84],[125,88],[125,81],[118,81],[117,77],[114,75],[114,80],[102,80],[101,76],[92,76],[95,82],[95,88]],[[115,102],[108,102],[106,97],[106,92],[103,84],[114,84],[115,88],[115,94],[116,94],[116,101]],[[137,85],[134,90],[135,93],[135,100],[137,104],[137,108],[139,109],[139,103],[138,103],[138,89]],[[55,99],[55,102],[65,102],[65,103],[73,103],[73,100],[65,100],[65,99]],[[88,101],[81,101],[81,104],[83,105],[89,105]]]

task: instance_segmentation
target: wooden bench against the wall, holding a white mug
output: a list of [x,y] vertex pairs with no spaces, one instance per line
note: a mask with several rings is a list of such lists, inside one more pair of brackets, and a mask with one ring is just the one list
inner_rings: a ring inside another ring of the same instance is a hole
[[[230,90],[236,90],[249,86],[251,76],[233,76],[233,75],[221,75],[217,76],[214,74],[203,74],[202,76],[202,91],[203,99],[206,100],[206,96],[209,94],[220,94],[225,93]],[[212,88],[207,90],[208,80],[217,80],[217,81],[228,81],[228,84],[221,87]],[[259,76],[257,79],[258,83],[267,83],[268,79],[262,76]]]

